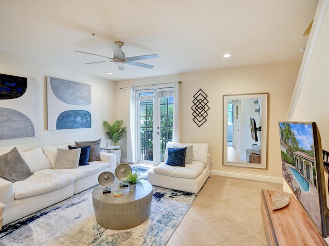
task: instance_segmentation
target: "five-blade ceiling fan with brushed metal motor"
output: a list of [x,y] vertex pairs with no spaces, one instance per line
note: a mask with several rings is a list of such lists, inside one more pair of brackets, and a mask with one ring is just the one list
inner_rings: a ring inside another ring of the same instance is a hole
[[121,41],[117,41],[114,43],[115,49],[114,49],[114,54],[113,58],[107,57],[104,55],[97,55],[93,53],[88,53],[84,51],[79,51],[75,50],[75,52],[80,52],[84,54],[89,54],[89,55],[97,55],[101,57],[105,57],[109,60],[104,60],[104,61],[96,61],[94,63],[86,63],[86,64],[95,64],[95,63],[114,63],[115,65],[118,65],[119,70],[124,69],[124,64],[129,64],[129,65],[134,65],[138,67],[143,67],[143,68],[153,68],[153,66],[144,64],[144,63],[137,63],[135,60],[144,60],[144,59],[152,59],[152,58],[158,58],[159,56],[157,54],[152,54],[152,55],[138,55],[138,56],[131,56],[131,57],[125,57],[124,52],[122,51],[122,47],[124,46],[124,43]]

